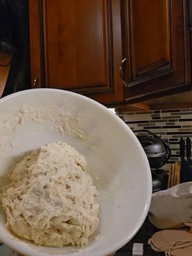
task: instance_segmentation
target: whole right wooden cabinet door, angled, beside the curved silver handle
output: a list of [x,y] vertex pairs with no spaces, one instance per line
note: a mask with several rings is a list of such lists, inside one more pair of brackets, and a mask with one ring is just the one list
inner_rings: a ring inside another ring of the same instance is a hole
[[186,8],[185,0],[122,0],[127,102],[174,93],[191,82]]

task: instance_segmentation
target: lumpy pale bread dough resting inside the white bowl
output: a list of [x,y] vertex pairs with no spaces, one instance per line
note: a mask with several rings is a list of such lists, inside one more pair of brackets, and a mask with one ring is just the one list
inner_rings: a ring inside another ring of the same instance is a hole
[[24,157],[2,189],[7,227],[36,244],[86,245],[99,225],[99,204],[85,170],[85,157],[67,143],[51,143]]

